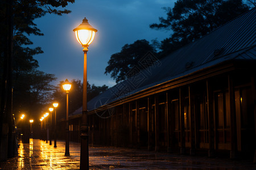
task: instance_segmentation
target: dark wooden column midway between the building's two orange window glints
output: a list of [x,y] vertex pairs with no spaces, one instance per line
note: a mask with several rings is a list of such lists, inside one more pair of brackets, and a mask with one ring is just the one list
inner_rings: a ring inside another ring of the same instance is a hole
[[209,150],[208,156],[212,157],[214,154],[214,116],[213,116],[213,92],[210,87],[209,80],[207,80],[207,112],[209,125]]

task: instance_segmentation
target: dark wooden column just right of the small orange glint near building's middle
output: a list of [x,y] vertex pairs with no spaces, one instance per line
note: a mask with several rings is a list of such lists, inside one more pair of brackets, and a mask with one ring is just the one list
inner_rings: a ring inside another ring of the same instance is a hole
[[192,92],[191,86],[188,86],[188,103],[189,103],[189,113],[190,113],[190,130],[191,130],[191,149],[190,155],[196,154],[196,136],[195,136],[195,96]]

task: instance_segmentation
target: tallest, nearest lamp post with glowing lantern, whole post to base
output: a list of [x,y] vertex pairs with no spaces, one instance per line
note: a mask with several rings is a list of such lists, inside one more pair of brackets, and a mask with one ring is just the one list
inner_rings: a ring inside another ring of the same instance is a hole
[[84,80],[82,88],[82,122],[81,122],[81,152],[80,152],[80,169],[89,169],[89,134],[88,134],[88,122],[87,122],[87,52],[88,46],[92,43],[97,29],[93,28],[88,23],[88,20],[84,18],[82,23],[73,29],[76,35],[77,41],[84,48]]

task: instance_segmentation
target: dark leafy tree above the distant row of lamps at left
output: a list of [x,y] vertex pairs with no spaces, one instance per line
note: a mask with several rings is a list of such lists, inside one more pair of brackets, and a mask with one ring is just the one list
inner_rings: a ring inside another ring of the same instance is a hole
[[39,116],[42,106],[52,98],[52,80],[56,80],[53,74],[39,70],[26,71],[16,76],[13,82],[14,113]]

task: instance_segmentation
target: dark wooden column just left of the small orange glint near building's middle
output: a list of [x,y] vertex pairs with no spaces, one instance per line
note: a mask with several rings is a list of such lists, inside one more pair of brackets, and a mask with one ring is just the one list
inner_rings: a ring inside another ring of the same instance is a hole
[[180,102],[180,154],[185,154],[184,92],[179,89]]

